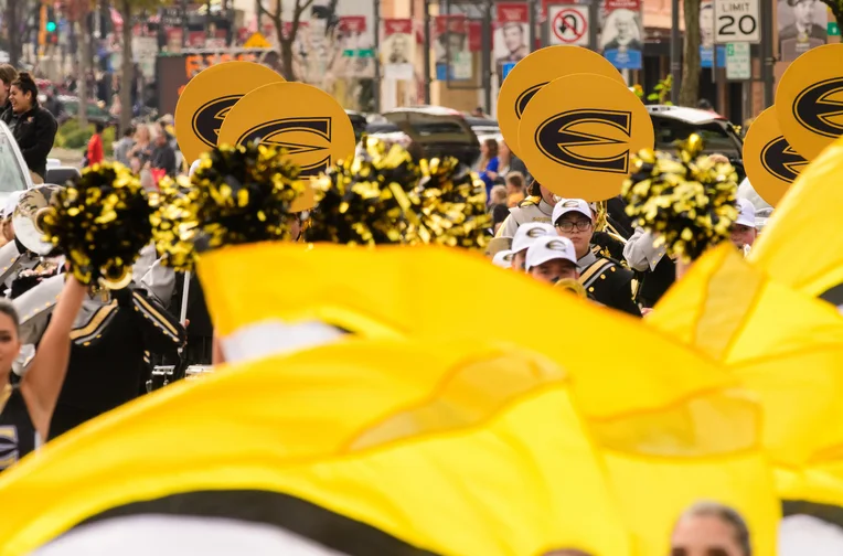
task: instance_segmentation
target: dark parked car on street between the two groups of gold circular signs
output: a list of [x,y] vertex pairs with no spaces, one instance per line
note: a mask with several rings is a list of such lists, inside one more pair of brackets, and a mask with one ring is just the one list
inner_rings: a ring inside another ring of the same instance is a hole
[[366,132],[385,140],[413,142],[426,157],[456,157],[473,165],[480,142],[461,113],[440,106],[396,108],[383,114],[385,122],[370,124]]

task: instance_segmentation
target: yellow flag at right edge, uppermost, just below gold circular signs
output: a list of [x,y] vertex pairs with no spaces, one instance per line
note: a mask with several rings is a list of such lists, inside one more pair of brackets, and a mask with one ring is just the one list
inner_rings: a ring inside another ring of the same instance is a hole
[[799,174],[749,257],[776,281],[836,306],[843,306],[841,175],[843,139],[837,139]]

